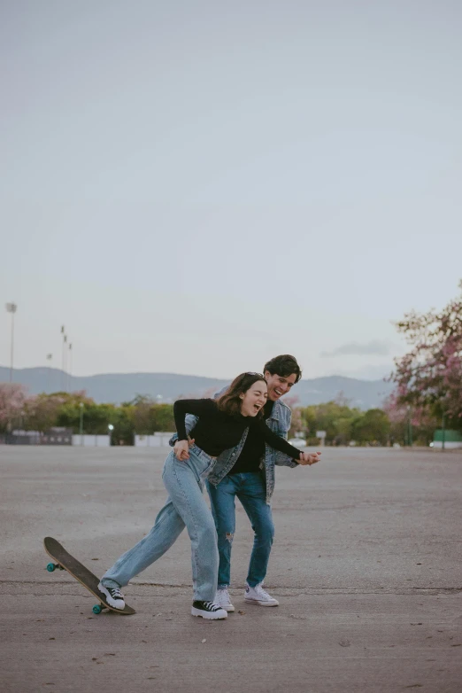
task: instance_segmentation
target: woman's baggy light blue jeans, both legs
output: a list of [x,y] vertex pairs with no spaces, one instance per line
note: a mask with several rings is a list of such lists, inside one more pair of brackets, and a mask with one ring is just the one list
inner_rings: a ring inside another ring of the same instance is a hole
[[189,460],[174,452],[166,458],[162,479],[168,498],[150,533],[119,557],[107,572],[105,587],[124,587],[139,572],[163,556],[186,526],[191,540],[194,599],[212,602],[217,588],[219,553],[212,513],[204,501],[203,479],[215,461],[193,445]]

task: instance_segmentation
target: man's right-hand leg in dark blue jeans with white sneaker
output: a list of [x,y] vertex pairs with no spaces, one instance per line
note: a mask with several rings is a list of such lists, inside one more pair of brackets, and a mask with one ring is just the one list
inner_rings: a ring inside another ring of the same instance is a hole
[[247,575],[246,600],[264,606],[277,606],[278,601],[261,587],[266,578],[269,557],[274,539],[271,506],[266,503],[265,478],[260,473],[249,472],[244,477],[237,497],[250,519],[255,533]]

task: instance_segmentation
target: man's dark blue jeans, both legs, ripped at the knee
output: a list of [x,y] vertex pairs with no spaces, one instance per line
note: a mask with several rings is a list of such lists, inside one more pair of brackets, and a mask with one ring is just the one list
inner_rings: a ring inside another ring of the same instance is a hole
[[273,546],[274,525],[271,507],[266,503],[266,484],[263,474],[246,472],[230,474],[218,486],[207,482],[212,515],[218,534],[218,588],[231,582],[231,547],[235,534],[235,496],[243,503],[255,533],[247,582],[255,587],[263,582]]

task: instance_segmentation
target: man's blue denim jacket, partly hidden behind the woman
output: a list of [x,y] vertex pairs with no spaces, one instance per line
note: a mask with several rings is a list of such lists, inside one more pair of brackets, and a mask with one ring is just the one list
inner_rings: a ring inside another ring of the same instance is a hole
[[[215,397],[218,397],[220,394],[225,392],[226,389],[227,388],[221,390],[219,393],[215,395]],[[287,404],[284,404],[283,401],[277,400],[274,402],[271,417],[266,419],[266,425],[274,433],[281,436],[281,438],[285,438],[287,440],[291,417],[292,412],[287,406]],[[188,414],[185,417],[186,432],[188,433],[188,435],[196,425],[196,421],[197,417],[194,417],[192,414]],[[207,480],[211,484],[213,484],[213,486],[218,486],[219,482],[226,477],[227,473],[231,471],[231,469],[235,465],[237,458],[241,455],[243,451],[244,443],[247,439],[248,432],[249,428],[246,428],[243,432],[243,437],[240,440],[239,445],[236,445],[235,448],[228,448],[227,450],[224,450],[221,453],[221,455],[219,455],[215,460],[215,463],[212,465],[211,471],[209,471],[207,478]],[[169,444],[173,446],[177,438],[178,436],[176,435],[176,433],[174,433],[172,438],[169,440]],[[294,459],[292,459],[292,457],[289,457],[288,455],[280,452],[279,450],[274,450],[273,448],[270,448],[269,445],[266,445],[265,443],[265,457],[264,459],[262,459],[260,469],[265,470],[266,502],[268,503],[268,505],[271,502],[271,497],[274,491],[275,464],[286,467],[298,466],[298,463]]]

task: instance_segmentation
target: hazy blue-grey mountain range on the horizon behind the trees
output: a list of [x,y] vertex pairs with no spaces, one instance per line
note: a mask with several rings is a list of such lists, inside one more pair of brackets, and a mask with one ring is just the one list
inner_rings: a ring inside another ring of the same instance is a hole
[[[8,382],[10,369],[0,366],[0,382]],[[28,394],[85,390],[96,402],[131,401],[137,394],[171,402],[179,397],[210,397],[229,380],[183,376],[176,373],[105,373],[96,376],[69,376],[62,370],[37,367],[13,370],[13,382],[25,385]],[[306,407],[337,399],[340,395],[350,407],[381,407],[393,385],[383,380],[359,380],[343,376],[303,378],[290,398],[295,406]],[[292,400],[293,401],[293,400]]]

